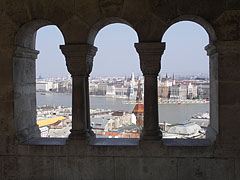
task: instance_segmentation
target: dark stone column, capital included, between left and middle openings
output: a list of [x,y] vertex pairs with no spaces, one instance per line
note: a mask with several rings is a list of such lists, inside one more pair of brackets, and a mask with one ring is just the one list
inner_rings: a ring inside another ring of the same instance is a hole
[[87,140],[90,127],[88,77],[97,48],[88,44],[60,46],[72,75],[72,130],[69,139]]

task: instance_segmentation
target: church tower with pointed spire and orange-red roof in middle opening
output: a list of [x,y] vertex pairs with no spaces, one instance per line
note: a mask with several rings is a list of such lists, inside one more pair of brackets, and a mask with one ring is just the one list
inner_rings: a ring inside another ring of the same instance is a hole
[[142,91],[141,91],[140,80],[138,80],[136,105],[133,109],[133,113],[136,116],[136,125],[138,126],[138,129],[140,131],[143,127],[143,115],[144,115],[144,106],[143,106],[143,103],[142,103]]

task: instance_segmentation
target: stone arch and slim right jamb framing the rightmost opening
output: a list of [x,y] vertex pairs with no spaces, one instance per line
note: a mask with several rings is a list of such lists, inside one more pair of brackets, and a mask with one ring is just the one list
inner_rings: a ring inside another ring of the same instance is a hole
[[[197,23],[207,32],[209,37],[209,44],[205,47],[207,55],[209,56],[209,75],[210,75],[210,124],[206,132],[207,139],[214,142],[218,134],[218,56],[214,42],[217,40],[217,36],[213,26],[206,20],[195,15],[184,15],[174,19],[168,24],[166,30],[175,23],[182,21],[191,21]],[[165,30],[165,32],[166,32]],[[164,34],[163,34],[164,35]],[[163,36],[162,36],[163,38]]]

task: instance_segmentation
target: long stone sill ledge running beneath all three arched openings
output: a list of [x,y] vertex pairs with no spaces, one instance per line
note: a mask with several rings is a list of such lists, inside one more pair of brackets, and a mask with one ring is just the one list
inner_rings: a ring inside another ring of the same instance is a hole
[[[67,138],[33,138],[11,147],[11,153],[20,156],[73,157],[231,157],[239,158],[239,146],[212,144],[207,139],[163,139],[144,142],[140,139],[93,139],[89,144],[68,144]],[[2,150],[1,150],[2,149]],[[0,146],[0,155],[9,154],[9,148]]]

